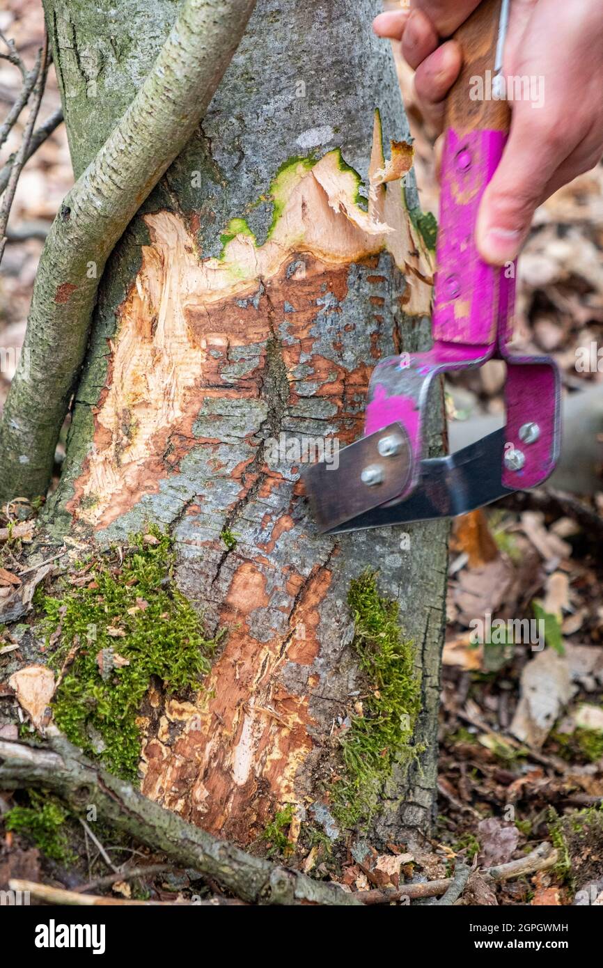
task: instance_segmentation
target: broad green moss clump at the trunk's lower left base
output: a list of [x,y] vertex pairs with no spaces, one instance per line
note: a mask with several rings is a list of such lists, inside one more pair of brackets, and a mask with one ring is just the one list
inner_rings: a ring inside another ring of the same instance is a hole
[[88,566],[88,587],[46,597],[44,605],[47,645],[59,626],[61,633],[50,664],[67,663],[52,704],[59,729],[110,771],[136,779],[136,718],[151,677],[168,693],[198,688],[216,640],[204,637],[171,580],[170,538],[149,529],[131,540],[123,560],[114,551]]

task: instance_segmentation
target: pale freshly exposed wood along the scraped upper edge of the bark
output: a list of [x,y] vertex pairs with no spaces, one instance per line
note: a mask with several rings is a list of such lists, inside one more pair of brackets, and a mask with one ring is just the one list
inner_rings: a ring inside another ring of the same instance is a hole
[[[290,173],[281,217],[263,246],[240,232],[221,259],[199,260],[195,239],[178,216],[145,217],[152,244],[143,247],[140,271],[121,308],[92,452],[69,508],[77,518],[106,527],[157,489],[171,469],[163,455],[176,429],[194,445],[199,399],[226,389],[216,386],[217,359],[270,336],[266,318],[250,331],[238,305],[253,298],[260,283],[281,278],[293,291],[307,278],[304,258],[312,257],[318,286],[317,270],[326,277],[385,249],[407,278],[407,314],[429,312],[432,266],[408,219],[399,180],[410,161],[407,153],[405,164],[394,169],[398,179],[382,184],[387,174],[376,123],[367,212],[355,201],[353,173],[330,152],[310,169],[300,163]],[[287,274],[297,257],[298,272]],[[253,394],[252,376],[232,395]]]

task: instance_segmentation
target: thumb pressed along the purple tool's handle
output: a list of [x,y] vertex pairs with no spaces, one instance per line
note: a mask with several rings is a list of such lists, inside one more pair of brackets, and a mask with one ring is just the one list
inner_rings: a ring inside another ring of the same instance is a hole
[[555,131],[534,122],[528,102],[517,102],[509,140],[477,218],[477,249],[492,265],[518,257],[534,211],[562,161],[557,145]]

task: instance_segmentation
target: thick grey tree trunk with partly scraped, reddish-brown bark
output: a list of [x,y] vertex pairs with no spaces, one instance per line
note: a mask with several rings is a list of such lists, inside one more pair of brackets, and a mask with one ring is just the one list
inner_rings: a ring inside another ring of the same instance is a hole
[[[319,441],[362,433],[375,361],[429,343],[431,256],[401,152],[386,164],[408,130],[378,8],[257,3],[196,137],[109,261],[47,510],[57,533],[101,543],[171,532],[180,588],[227,634],[202,693],[151,697],[141,788],[242,844],[289,803],[331,837],[370,815],[376,844],[427,832],[433,812],[447,529],[319,536],[297,484]],[[45,12],[77,174],[175,5]],[[434,453],[440,418],[437,399]],[[348,605],[367,567],[414,644],[421,708],[408,748],[383,750],[378,803],[346,823],[342,738],[376,694]]]

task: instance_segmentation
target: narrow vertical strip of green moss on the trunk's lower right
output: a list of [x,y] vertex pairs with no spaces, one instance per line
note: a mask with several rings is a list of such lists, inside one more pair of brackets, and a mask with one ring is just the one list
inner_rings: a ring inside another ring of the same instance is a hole
[[365,676],[366,695],[363,714],[351,717],[341,740],[345,770],[330,791],[330,807],[349,828],[370,821],[394,767],[407,765],[422,750],[411,745],[420,684],[412,643],[401,634],[398,603],[380,597],[371,571],[351,583],[347,603],[355,622],[352,649]]

